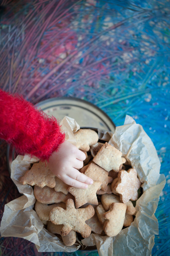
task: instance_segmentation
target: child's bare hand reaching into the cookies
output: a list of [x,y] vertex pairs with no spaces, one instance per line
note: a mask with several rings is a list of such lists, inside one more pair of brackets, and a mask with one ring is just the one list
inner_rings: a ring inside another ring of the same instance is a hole
[[79,170],[83,167],[85,154],[68,141],[64,141],[57,152],[49,158],[48,167],[66,184],[76,188],[87,188],[93,180]]

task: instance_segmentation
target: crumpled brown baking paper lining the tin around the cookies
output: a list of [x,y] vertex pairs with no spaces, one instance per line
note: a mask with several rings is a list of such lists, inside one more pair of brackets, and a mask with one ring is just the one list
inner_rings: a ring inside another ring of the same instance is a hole
[[[65,117],[61,123],[66,139],[75,145],[73,132],[79,129],[74,119]],[[130,116],[125,123],[116,127],[114,134],[98,129],[99,138],[119,149],[136,168],[142,182],[143,194],[136,202],[136,218],[130,225],[115,236],[91,234],[82,240],[84,246],[97,246],[100,256],[150,256],[154,245],[154,235],[158,234],[158,221],[154,216],[160,193],[165,185],[165,176],[160,175],[160,161],[155,147],[143,130]],[[29,161],[30,160],[30,161]],[[1,221],[1,236],[22,237],[35,243],[39,252],[73,252],[80,248],[79,241],[73,246],[65,246],[55,235],[43,228],[43,223],[33,210],[35,198],[29,185],[19,182],[21,176],[37,159],[17,156],[12,162],[11,178],[23,196],[5,205]],[[86,248],[87,249],[87,248]]]

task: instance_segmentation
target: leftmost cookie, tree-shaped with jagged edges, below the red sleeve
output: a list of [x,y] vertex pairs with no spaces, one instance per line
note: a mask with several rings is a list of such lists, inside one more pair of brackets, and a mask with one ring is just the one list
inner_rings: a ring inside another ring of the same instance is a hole
[[25,185],[54,188],[56,185],[55,175],[50,171],[44,162],[33,164],[30,170],[27,170],[25,175],[20,178],[20,182]]

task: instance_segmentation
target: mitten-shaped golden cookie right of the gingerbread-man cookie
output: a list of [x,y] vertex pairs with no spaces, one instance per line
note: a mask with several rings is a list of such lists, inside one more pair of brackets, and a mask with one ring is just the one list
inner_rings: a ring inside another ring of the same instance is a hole
[[126,205],[123,203],[112,203],[110,210],[103,214],[106,219],[103,230],[109,237],[116,236],[123,228],[125,220]]

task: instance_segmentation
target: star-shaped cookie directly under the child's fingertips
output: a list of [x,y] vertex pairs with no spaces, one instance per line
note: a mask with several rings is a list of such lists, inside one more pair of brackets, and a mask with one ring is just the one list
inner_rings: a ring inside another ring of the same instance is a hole
[[68,187],[68,191],[75,198],[75,208],[79,208],[85,203],[98,205],[96,191],[101,186],[101,182],[94,181],[92,185],[88,185],[88,188],[75,188]]

